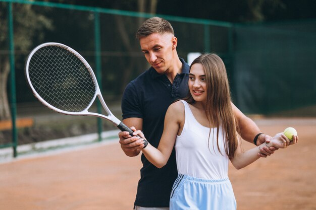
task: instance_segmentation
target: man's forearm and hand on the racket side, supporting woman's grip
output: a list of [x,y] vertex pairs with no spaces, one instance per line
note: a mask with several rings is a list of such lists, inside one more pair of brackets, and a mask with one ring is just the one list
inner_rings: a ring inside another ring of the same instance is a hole
[[[132,130],[142,130],[143,119],[137,117],[126,118],[123,123]],[[120,144],[123,152],[129,157],[135,157],[140,153],[141,148],[144,147],[142,139],[136,136],[131,136],[127,131],[119,132]]]

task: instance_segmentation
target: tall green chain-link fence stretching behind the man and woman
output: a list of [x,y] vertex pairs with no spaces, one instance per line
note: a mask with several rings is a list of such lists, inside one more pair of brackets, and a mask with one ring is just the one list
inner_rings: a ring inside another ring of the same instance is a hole
[[[12,5],[12,14],[9,14],[9,5]],[[15,69],[10,69],[15,73],[13,82],[4,74],[6,66],[10,66],[9,15],[13,17],[14,32]],[[149,67],[135,39],[138,27],[149,17],[152,15],[0,0],[0,91],[8,94],[10,100],[10,86],[16,87],[17,118],[33,119],[32,126],[18,127],[18,144],[99,131],[94,117],[55,114],[37,102],[24,77],[26,57],[35,46],[60,42],[82,54],[99,77],[104,99],[120,118],[120,100],[125,86]],[[174,27],[180,57],[187,60],[190,52],[214,52],[223,58],[233,101],[244,113],[311,115],[310,107],[316,104],[315,20],[231,24],[161,17]],[[6,78],[9,83],[4,86]],[[307,111],[293,112],[306,110],[306,107]],[[112,125],[102,123],[101,129],[109,128],[113,128]],[[10,129],[0,128],[0,145],[12,141],[11,133]]]

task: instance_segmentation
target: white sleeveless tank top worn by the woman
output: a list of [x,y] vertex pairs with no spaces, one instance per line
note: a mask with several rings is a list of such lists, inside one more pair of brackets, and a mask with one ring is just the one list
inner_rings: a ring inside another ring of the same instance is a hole
[[185,107],[185,122],[175,144],[178,173],[209,180],[227,178],[229,158],[225,153],[223,130],[219,132],[221,155],[217,147],[217,128],[201,125],[188,103],[181,101]]

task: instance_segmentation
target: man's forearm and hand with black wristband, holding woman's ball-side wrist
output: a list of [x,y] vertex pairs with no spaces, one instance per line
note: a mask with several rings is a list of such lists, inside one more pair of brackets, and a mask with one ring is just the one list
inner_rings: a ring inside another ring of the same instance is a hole
[[[260,129],[254,123],[254,121],[252,121],[249,117],[244,115],[233,103],[232,103],[232,107],[233,107],[234,116],[238,122],[238,126],[240,129],[240,133],[239,133],[240,136],[243,139],[245,139],[245,141],[253,144],[254,137],[258,133],[261,133]],[[264,144],[265,142],[269,143],[271,138],[272,138],[271,136],[262,133],[257,136],[256,145],[258,146],[258,145]],[[267,157],[268,155],[270,156],[271,154],[273,154],[275,150],[278,150],[278,148],[262,147],[258,155],[260,157]]]

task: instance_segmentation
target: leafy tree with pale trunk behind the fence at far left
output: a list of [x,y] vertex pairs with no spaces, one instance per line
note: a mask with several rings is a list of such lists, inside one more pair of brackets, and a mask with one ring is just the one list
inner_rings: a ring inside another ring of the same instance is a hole
[[[51,30],[52,21],[36,11],[31,5],[14,4],[14,43],[15,51],[29,50],[34,39],[43,37],[43,30]],[[8,3],[0,2],[0,46],[3,48],[0,57],[0,120],[10,118],[10,108],[7,94],[10,60],[8,53]],[[7,49],[7,50],[5,50]]]

